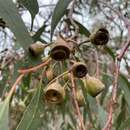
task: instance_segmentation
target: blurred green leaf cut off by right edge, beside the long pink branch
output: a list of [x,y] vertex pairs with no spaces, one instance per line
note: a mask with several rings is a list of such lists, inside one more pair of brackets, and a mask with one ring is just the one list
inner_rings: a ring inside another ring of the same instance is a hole
[[124,98],[128,104],[129,112],[130,112],[130,83],[127,78],[120,74],[119,77],[119,86],[124,91]]

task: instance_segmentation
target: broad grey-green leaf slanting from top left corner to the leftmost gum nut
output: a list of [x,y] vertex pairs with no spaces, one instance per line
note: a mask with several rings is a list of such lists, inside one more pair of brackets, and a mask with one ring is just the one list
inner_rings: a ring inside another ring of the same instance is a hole
[[33,41],[12,0],[0,0],[0,16],[14,33],[17,41],[26,50]]

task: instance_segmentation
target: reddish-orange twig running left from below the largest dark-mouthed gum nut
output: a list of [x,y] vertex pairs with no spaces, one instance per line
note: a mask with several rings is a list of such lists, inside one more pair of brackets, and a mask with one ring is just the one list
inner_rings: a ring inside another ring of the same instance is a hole
[[49,58],[47,61],[37,65],[37,66],[34,66],[32,68],[29,68],[29,69],[20,69],[18,70],[19,73],[21,74],[26,74],[26,73],[30,73],[30,72],[35,72],[37,69],[40,69],[41,67],[44,67],[46,65],[48,65],[51,61],[51,58]]

